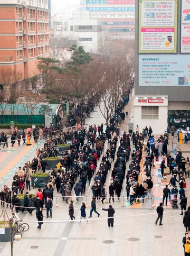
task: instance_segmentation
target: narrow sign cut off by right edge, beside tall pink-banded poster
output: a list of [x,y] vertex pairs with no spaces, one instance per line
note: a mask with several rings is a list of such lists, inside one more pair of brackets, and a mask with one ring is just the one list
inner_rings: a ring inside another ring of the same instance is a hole
[[181,52],[190,53],[190,1],[182,0]]

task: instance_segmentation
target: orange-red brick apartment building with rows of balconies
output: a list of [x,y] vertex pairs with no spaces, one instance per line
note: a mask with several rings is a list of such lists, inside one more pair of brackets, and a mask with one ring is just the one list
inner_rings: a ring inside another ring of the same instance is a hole
[[49,57],[48,0],[0,0],[0,68],[30,78],[37,57]]

